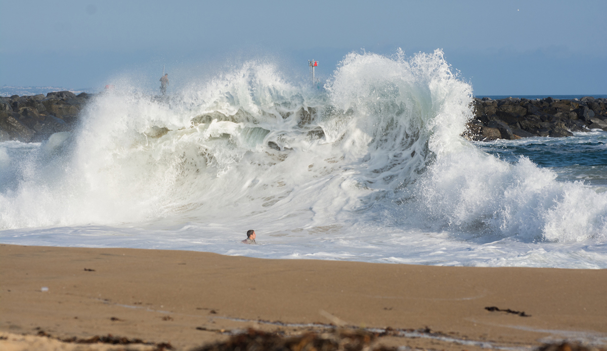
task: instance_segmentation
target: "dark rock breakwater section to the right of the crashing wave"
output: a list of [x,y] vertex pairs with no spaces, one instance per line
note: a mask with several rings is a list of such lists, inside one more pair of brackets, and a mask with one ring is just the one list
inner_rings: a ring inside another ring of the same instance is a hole
[[471,140],[571,136],[592,129],[607,131],[607,99],[492,100],[475,98],[474,116],[463,136]]

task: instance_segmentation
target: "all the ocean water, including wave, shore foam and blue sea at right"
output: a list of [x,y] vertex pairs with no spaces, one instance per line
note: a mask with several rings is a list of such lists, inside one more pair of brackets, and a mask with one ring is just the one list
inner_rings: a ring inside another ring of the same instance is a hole
[[0,143],[0,242],[607,268],[607,133],[466,141],[472,86],[439,50],[115,86],[72,133]]

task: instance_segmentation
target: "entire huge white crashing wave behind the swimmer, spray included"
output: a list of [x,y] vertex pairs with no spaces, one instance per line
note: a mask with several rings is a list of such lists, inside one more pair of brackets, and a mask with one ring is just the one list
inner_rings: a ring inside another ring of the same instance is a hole
[[0,193],[0,229],[192,221],[480,242],[607,237],[605,192],[461,138],[472,88],[439,50],[351,53],[321,90],[259,62],[170,99],[116,85],[63,143],[0,153],[22,165],[4,175],[17,180]]

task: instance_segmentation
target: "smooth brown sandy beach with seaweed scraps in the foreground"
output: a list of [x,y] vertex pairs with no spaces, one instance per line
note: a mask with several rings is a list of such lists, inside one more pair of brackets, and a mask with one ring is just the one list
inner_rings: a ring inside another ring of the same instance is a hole
[[607,270],[2,244],[0,282],[3,350],[87,350],[59,340],[107,335],[188,350],[249,328],[296,335],[333,326],[412,349],[607,344]]

